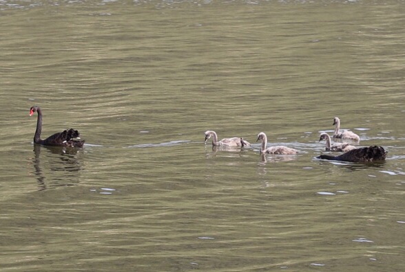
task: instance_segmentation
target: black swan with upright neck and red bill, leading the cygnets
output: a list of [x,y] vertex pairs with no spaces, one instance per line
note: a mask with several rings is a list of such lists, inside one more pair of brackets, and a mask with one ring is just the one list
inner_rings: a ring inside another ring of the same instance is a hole
[[32,116],[35,112],[38,112],[38,120],[37,120],[37,131],[35,131],[34,135],[34,143],[35,144],[42,144],[44,146],[68,146],[68,147],[82,147],[84,144],[84,140],[77,140],[80,139],[79,131],[75,131],[73,128],[70,128],[68,131],[62,131],[61,133],[55,133],[54,135],[50,135],[50,137],[46,139],[41,139],[41,131],[42,131],[42,112],[39,106],[32,106],[30,109],[30,116]]

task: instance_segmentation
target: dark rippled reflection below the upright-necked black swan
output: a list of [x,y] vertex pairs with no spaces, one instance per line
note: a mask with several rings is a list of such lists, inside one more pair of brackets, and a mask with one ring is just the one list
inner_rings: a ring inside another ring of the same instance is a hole
[[[42,156],[41,151],[44,151]],[[82,161],[78,159],[80,151],[77,148],[34,144],[32,163],[39,191],[49,186],[72,186],[78,183],[79,170],[82,168]]]

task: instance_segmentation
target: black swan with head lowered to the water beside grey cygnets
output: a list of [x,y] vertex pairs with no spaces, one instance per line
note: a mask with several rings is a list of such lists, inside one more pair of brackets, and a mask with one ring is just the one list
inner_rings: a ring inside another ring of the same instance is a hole
[[368,146],[364,148],[356,148],[338,156],[320,155],[317,158],[353,162],[384,161],[386,153],[386,150],[384,150],[382,146]]

